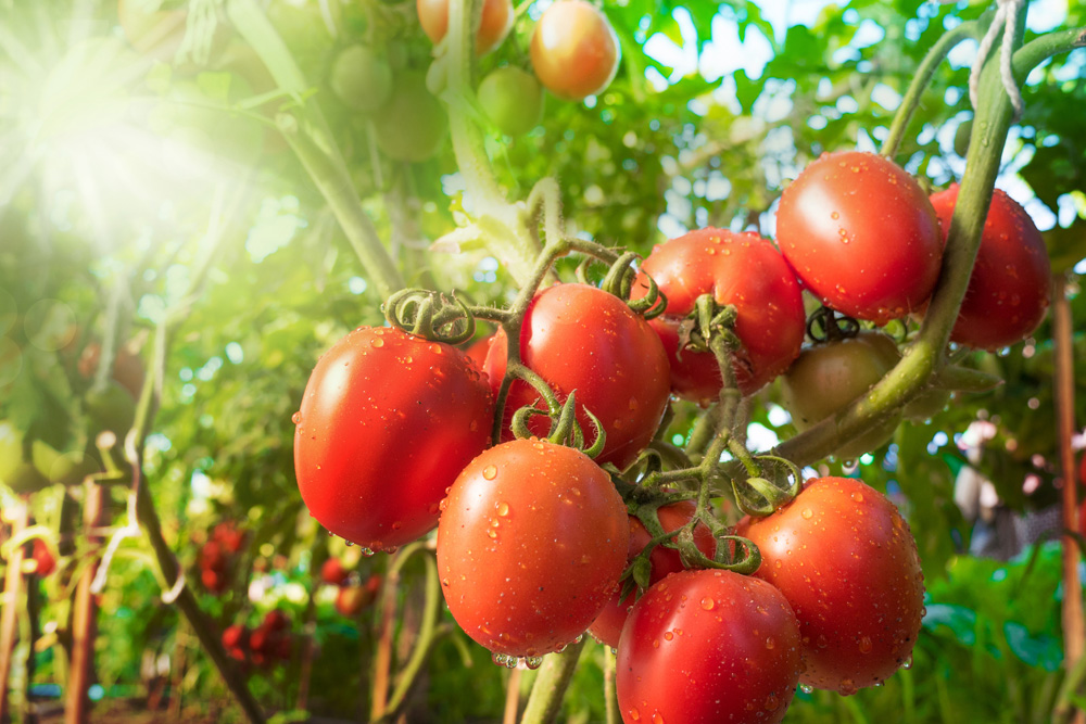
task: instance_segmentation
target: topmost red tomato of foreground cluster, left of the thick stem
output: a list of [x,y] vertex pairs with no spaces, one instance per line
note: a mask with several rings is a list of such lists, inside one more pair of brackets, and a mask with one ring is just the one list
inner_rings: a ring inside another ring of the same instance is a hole
[[879,323],[923,305],[943,258],[923,189],[873,153],[823,154],[808,165],[781,195],[776,241],[823,304]]

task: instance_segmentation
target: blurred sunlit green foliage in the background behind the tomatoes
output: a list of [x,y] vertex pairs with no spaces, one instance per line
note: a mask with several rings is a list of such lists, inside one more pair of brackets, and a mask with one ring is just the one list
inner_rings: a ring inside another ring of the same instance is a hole
[[[330,88],[336,59],[358,42],[397,73],[427,67],[432,48],[414,3],[256,4],[301,68],[408,283],[460,290],[480,303],[510,299],[515,285],[488,250],[428,251],[471,205],[447,140],[424,162],[391,161],[377,152],[371,118]],[[528,65],[530,30],[546,4],[523,3],[510,38],[479,59],[479,75]],[[485,148],[513,200],[540,178],[557,178],[565,221],[585,238],[646,254],[707,225],[772,237],[783,186],[823,152],[875,150],[926,50],[988,4],[606,2],[623,50],[611,86],[584,103],[548,97],[542,122],[518,138],[480,115]],[[173,29],[148,30],[163,23]],[[1038,0],[1028,35],[1084,23],[1081,3]],[[963,169],[975,50],[967,41],[939,67],[897,158],[932,188]],[[1072,314],[1083,319],[1075,272],[1086,268],[1086,51],[1038,68],[1024,92],[1026,113],[1002,150],[998,186],[1045,231],[1053,263],[1071,275]],[[381,300],[275,126],[291,102],[215,0],[0,0],[0,420],[18,431],[13,445],[28,459],[51,450],[68,467],[98,469],[92,442],[103,405],[121,416],[114,428],[130,409],[123,397],[119,409],[102,402],[113,383],[83,361],[88,348],[104,342],[119,357],[124,347],[146,368],[155,327],[180,315],[148,439],[148,484],[167,539],[220,625],[255,625],[279,609],[298,642],[305,634],[318,645],[312,671],[303,672],[296,643],[286,663],[254,673],[250,686],[264,704],[295,709],[305,679],[310,711],[365,719],[380,607],[338,613],[334,587],[320,586],[315,570],[329,555],[342,557],[365,581],[387,561],[359,559],[306,515],[293,480],[291,415],[317,356],[348,330],[380,323]],[[203,283],[190,289],[204,267]],[[1086,380],[1081,332],[1075,352],[1076,380]],[[1056,503],[1050,325],[967,364],[1005,383],[905,423],[875,454],[817,466],[862,477],[909,513],[931,599],[915,666],[853,698],[800,694],[788,721],[1047,721],[1061,677],[1058,552],[1044,546],[1010,563],[965,555],[971,530],[954,504],[954,479],[963,433],[987,420],[995,436],[978,466],[1002,500],[1018,511]],[[1078,420],[1086,419],[1081,393]],[[755,447],[793,434],[778,396],[771,385],[753,399]],[[677,440],[696,411],[680,405]],[[65,681],[72,585],[93,550],[73,523],[79,487],[33,471],[10,478],[0,487],[5,506],[25,496],[62,562],[42,584],[36,652],[16,657],[37,664],[31,690],[48,698]],[[126,495],[125,484],[109,487],[108,525],[123,524]],[[213,593],[200,588],[199,561],[223,521],[245,538],[227,585]],[[192,717],[237,719],[191,631],[160,602],[153,571],[142,539],[122,546],[101,599],[93,697],[148,708],[173,698]],[[408,568],[404,581],[397,631],[409,638],[421,606],[412,593],[418,573]],[[566,699],[569,721],[603,717],[603,660],[602,647],[590,645]],[[507,676],[453,634],[437,647],[411,711],[417,721],[496,721]]]

